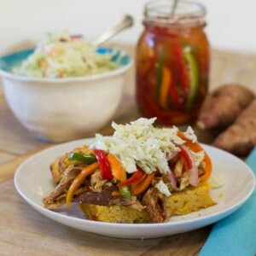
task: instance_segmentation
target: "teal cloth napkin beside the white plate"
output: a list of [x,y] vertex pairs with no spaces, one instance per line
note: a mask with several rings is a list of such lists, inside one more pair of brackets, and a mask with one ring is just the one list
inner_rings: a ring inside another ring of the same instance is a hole
[[[256,175],[256,148],[246,162]],[[199,255],[256,256],[256,190],[240,209],[213,225]]]

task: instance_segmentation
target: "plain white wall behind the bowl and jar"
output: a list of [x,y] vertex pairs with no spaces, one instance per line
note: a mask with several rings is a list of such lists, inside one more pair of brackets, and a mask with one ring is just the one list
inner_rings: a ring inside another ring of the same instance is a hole
[[[256,1],[198,0],[207,7],[212,47],[256,53]],[[44,32],[67,29],[94,39],[119,16],[133,15],[135,26],[113,42],[136,44],[143,29],[143,0],[0,0],[0,55],[35,43]]]

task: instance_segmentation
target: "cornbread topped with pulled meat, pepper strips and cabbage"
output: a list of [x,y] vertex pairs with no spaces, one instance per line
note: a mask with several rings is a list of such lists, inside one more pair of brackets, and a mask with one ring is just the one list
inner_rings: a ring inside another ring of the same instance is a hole
[[207,179],[212,162],[194,131],[155,128],[153,119],[113,123],[112,137],[96,134],[51,165],[55,189],[44,206],[78,203],[87,219],[162,223],[215,204]]

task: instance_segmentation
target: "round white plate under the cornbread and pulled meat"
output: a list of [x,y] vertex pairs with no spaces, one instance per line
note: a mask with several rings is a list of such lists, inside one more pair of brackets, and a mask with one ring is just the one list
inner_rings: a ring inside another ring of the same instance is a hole
[[32,155],[15,172],[15,188],[34,209],[56,222],[79,230],[120,238],[153,238],[199,229],[235,212],[253,193],[255,178],[243,161],[223,150],[203,145],[212,158],[213,174],[224,173],[225,177],[222,188],[212,189],[212,198],[218,202],[216,206],[172,217],[163,224],[108,224],[84,219],[76,205],[73,205],[71,211],[67,211],[66,207],[57,212],[44,208],[44,196],[54,189],[49,164],[57,156],[90,143],[91,140],[63,143]]

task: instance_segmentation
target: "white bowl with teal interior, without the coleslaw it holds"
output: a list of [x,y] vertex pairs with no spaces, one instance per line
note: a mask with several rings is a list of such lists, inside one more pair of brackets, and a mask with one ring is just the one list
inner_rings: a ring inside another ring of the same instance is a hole
[[[90,76],[40,79],[11,73],[32,50],[0,58],[3,92],[20,123],[53,142],[87,137],[106,125],[119,106],[130,56],[119,51],[117,69]],[[101,52],[105,50],[113,49]]]

